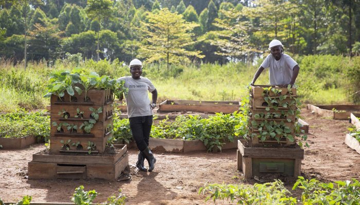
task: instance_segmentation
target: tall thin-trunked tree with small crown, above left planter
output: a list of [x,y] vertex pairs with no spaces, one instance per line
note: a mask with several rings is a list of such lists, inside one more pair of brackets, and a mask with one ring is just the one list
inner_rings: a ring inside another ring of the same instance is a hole
[[[113,2],[111,0],[88,0],[86,6],[86,13],[89,18],[97,19],[100,26],[101,22],[105,18],[111,18],[112,16],[112,5]],[[96,61],[99,61],[99,43],[100,43],[100,29],[98,30],[98,40],[97,40],[97,58]]]

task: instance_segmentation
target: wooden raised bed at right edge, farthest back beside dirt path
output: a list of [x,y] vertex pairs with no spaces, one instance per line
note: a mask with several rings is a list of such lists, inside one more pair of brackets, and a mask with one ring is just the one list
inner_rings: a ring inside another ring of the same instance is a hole
[[351,113],[360,113],[360,105],[310,105],[308,110],[333,119],[349,119]]

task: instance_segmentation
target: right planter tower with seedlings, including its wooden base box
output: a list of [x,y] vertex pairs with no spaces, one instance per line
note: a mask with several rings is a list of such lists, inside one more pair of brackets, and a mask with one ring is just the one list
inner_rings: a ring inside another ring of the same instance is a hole
[[[250,86],[243,101],[244,138],[238,142],[238,170],[245,178],[266,174],[300,176],[302,135],[296,88]],[[296,139],[297,138],[297,139]],[[295,141],[297,140],[297,144]],[[308,144],[305,144],[308,146]]]

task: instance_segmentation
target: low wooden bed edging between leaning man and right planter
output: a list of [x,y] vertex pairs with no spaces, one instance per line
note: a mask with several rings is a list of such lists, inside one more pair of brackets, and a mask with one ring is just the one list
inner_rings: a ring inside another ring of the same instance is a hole
[[[235,138],[233,142],[226,142],[222,150],[237,148],[239,138]],[[191,151],[206,151],[204,142],[199,139],[159,139],[150,138],[149,148],[153,151],[185,153]]]

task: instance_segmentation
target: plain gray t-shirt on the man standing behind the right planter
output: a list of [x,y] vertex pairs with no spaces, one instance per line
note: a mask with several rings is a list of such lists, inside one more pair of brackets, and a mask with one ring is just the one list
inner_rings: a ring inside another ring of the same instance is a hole
[[290,84],[293,77],[293,69],[298,65],[296,61],[287,54],[282,54],[280,60],[275,60],[272,54],[266,56],[261,67],[270,68],[270,85]]

